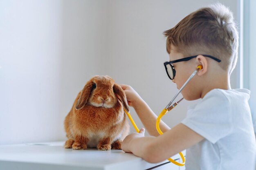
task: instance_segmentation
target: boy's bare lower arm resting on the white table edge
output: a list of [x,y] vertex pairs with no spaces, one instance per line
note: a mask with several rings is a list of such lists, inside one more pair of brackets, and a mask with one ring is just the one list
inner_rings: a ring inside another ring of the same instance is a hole
[[150,163],[158,163],[203,139],[204,137],[184,124],[178,124],[158,137],[135,137],[127,144],[127,148],[128,152],[130,150],[134,155],[142,157]]

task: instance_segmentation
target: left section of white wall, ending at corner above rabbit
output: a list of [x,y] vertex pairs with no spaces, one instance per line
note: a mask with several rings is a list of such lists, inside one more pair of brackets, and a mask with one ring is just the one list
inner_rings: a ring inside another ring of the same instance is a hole
[[74,98],[104,73],[105,27],[106,1],[0,1],[0,144],[65,139]]

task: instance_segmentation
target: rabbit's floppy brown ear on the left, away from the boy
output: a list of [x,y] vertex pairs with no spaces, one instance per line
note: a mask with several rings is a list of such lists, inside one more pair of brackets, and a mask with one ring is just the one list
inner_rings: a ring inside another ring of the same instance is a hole
[[92,82],[91,80],[89,82],[87,82],[81,92],[81,95],[78,99],[78,101],[76,102],[76,110],[82,108],[87,100],[88,100],[88,97],[90,95],[90,93],[92,92],[92,89],[94,88],[95,86],[95,83]]

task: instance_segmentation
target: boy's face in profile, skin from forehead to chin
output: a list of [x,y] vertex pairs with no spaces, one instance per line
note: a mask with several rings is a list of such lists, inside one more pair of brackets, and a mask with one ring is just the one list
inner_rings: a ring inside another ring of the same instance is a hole
[[[182,53],[177,52],[175,46],[171,46],[171,53],[169,54],[170,61],[178,60],[184,57]],[[176,71],[175,77],[172,80],[177,85],[177,89],[180,89],[190,75],[196,70],[196,59],[192,59],[184,62],[173,63],[173,68]],[[200,91],[198,91],[198,85],[196,84],[195,75],[189,83],[181,91],[184,99],[186,100],[196,100],[201,97]]]

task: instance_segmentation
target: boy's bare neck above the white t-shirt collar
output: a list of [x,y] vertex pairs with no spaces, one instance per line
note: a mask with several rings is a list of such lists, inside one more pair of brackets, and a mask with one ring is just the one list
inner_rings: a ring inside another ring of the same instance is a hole
[[224,75],[222,77],[219,77],[218,81],[215,81],[214,83],[210,81],[211,83],[207,84],[207,86],[204,88],[204,90],[201,93],[201,98],[203,98],[209,91],[213,90],[214,88],[220,88],[223,90],[230,90],[230,81],[229,76]]

